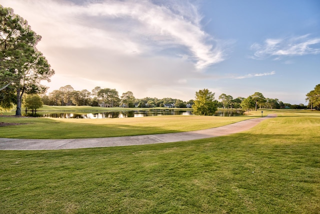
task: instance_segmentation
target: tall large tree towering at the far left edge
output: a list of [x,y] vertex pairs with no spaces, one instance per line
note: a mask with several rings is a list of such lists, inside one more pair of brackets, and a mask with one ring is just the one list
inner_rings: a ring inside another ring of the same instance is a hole
[[14,91],[16,115],[21,115],[23,93],[43,93],[46,87],[40,81],[50,81],[54,74],[45,57],[35,48],[40,39],[26,20],[14,14],[11,8],[0,5],[0,93],[4,89],[9,89],[10,93]]

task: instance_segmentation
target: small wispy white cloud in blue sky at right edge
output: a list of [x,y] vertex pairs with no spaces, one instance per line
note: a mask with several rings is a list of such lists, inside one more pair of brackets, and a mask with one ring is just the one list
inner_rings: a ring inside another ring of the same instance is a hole
[[277,39],[268,38],[263,44],[251,45],[251,49],[255,51],[252,58],[263,59],[274,56],[274,59],[280,59],[282,56],[319,54],[319,45],[320,37],[312,38],[310,34]]

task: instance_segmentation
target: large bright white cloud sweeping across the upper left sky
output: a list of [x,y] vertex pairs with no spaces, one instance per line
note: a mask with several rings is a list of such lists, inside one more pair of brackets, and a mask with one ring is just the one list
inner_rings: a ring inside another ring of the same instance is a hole
[[43,38],[56,41],[55,45],[99,47],[125,54],[187,55],[181,60],[191,61],[197,70],[224,60],[219,42],[202,30],[202,16],[195,4],[154,2],[47,0],[30,1],[30,7],[46,17],[42,27],[48,33]]

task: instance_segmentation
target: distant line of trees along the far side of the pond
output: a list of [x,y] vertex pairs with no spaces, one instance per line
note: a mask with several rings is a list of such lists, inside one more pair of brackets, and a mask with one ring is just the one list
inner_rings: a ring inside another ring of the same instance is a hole
[[[198,91],[197,91],[198,92]],[[196,92],[196,93],[197,93]],[[195,97],[197,95],[195,94]],[[256,110],[258,108],[307,108],[303,104],[291,105],[290,103],[283,103],[277,98],[265,98],[262,93],[255,92],[248,97],[236,97],[222,93],[218,96],[218,100],[212,94],[214,104],[218,108]],[[94,87],[91,91],[87,89],[74,90],[71,85],[61,86],[48,94],[42,94],[41,99],[46,105],[90,105],[101,107],[191,107],[194,100],[183,101],[177,98],[156,98],[144,97],[135,98],[133,92],[127,91],[119,95],[116,89]]]

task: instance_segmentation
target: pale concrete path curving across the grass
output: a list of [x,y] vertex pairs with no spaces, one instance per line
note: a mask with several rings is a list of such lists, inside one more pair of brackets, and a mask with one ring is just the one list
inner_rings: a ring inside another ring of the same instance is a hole
[[268,114],[265,117],[247,119],[215,128],[164,134],[148,134],[138,136],[86,138],[86,139],[17,139],[0,138],[0,150],[53,150],[71,148],[93,148],[124,145],[142,145],[163,142],[186,141],[245,131],[264,119],[275,117]]

